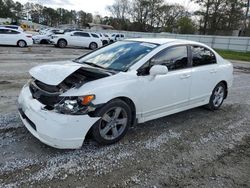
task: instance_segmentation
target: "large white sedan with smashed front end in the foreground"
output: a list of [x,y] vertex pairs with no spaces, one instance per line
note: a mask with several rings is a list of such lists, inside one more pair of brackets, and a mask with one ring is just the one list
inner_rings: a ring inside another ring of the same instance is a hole
[[207,105],[217,110],[233,66],[210,47],[176,39],[130,39],[73,61],[30,70],[20,117],[42,142],[80,148],[120,140],[132,124]]

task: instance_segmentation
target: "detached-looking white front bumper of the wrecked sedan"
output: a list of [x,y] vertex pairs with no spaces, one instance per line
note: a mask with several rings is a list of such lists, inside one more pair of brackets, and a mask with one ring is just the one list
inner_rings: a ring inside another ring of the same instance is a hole
[[41,142],[59,149],[76,149],[83,144],[98,117],[65,115],[43,109],[26,85],[18,98],[19,114],[26,128]]

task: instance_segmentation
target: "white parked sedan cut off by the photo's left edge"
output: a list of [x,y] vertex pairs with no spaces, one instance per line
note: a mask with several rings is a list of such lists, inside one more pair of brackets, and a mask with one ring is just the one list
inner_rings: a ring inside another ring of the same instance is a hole
[[0,27],[0,45],[26,47],[32,44],[32,35],[15,29]]

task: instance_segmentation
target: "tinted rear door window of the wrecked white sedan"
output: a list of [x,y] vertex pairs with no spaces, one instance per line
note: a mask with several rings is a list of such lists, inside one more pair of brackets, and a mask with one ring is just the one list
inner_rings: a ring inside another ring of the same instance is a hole
[[192,46],[191,49],[193,67],[216,63],[216,57],[209,49],[202,46]]

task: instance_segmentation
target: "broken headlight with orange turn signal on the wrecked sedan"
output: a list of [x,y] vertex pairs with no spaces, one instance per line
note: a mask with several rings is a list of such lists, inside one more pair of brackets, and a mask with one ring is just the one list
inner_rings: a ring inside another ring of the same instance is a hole
[[92,101],[95,95],[86,95],[82,97],[65,97],[62,101],[54,106],[54,110],[62,114],[87,114],[94,111],[95,107]]

